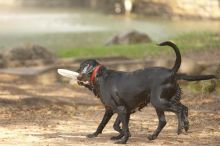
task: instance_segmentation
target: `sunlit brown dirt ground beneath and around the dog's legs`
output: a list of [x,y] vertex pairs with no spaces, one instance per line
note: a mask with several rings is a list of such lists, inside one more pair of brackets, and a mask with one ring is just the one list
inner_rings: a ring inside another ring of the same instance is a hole
[[[131,116],[127,145],[220,145],[220,95],[193,94],[183,88],[182,102],[189,107],[190,129],[176,134],[177,120],[166,113],[167,125],[154,141],[147,135],[157,126],[151,106]],[[117,133],[108,123],[103,134],[88,139],[104,113],[99,99],[87,89],[56,83],[31,84],[0,76],[0,145],[68,146],[113,145]]]

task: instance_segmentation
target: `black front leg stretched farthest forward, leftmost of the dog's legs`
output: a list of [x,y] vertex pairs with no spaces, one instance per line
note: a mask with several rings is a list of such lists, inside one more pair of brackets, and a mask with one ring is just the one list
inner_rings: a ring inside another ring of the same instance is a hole
[[111,119],[112,115],[113,115],[113,111],[111,109],[105,109],[105,114],[98,128],[96,129],[94,133],[87,135],[87,137],[88,138],[97,137],[100,133],[102,133],[102,130],[105,128],[105,125]]

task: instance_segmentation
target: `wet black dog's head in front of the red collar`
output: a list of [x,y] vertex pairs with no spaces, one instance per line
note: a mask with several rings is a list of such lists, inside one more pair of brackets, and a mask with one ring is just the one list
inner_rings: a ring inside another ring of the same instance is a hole
[[77,72],[79,73],[79,76],[77,77],[79,82],[89,82],[90,83],[90,78],[92,76],[92,73],[94,69],[99,66],[100,64],[94,60],[94,59],[89,59],[80,64],[79,69]]

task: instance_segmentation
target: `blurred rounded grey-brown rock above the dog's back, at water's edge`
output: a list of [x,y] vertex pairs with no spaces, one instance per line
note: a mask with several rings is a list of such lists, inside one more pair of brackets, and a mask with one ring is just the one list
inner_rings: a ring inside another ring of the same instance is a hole
[[114,44],[137,44],[137,43],[149,43],[151,39],[149,36],[143,32],[137,30],[129,30],[119,33],[113,36],[110,40],[106,42],[106,45]]

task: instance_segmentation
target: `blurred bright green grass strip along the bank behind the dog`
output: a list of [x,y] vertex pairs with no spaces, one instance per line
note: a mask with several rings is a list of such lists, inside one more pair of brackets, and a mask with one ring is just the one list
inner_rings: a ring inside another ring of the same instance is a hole
[[[187,51],[203,51],[207,49],[220,49],[220,34],[211,32],[188,33],[172,39],[182,53]],[[159,48],[156,42],[137,45],[114,45],[97,46],[85,48],[66,48],[56,52],[59,57],[105,57],[105,56],[127,56],[144,57],[146,55],[156,55],[158,53],[169,53],[170,48]]]

